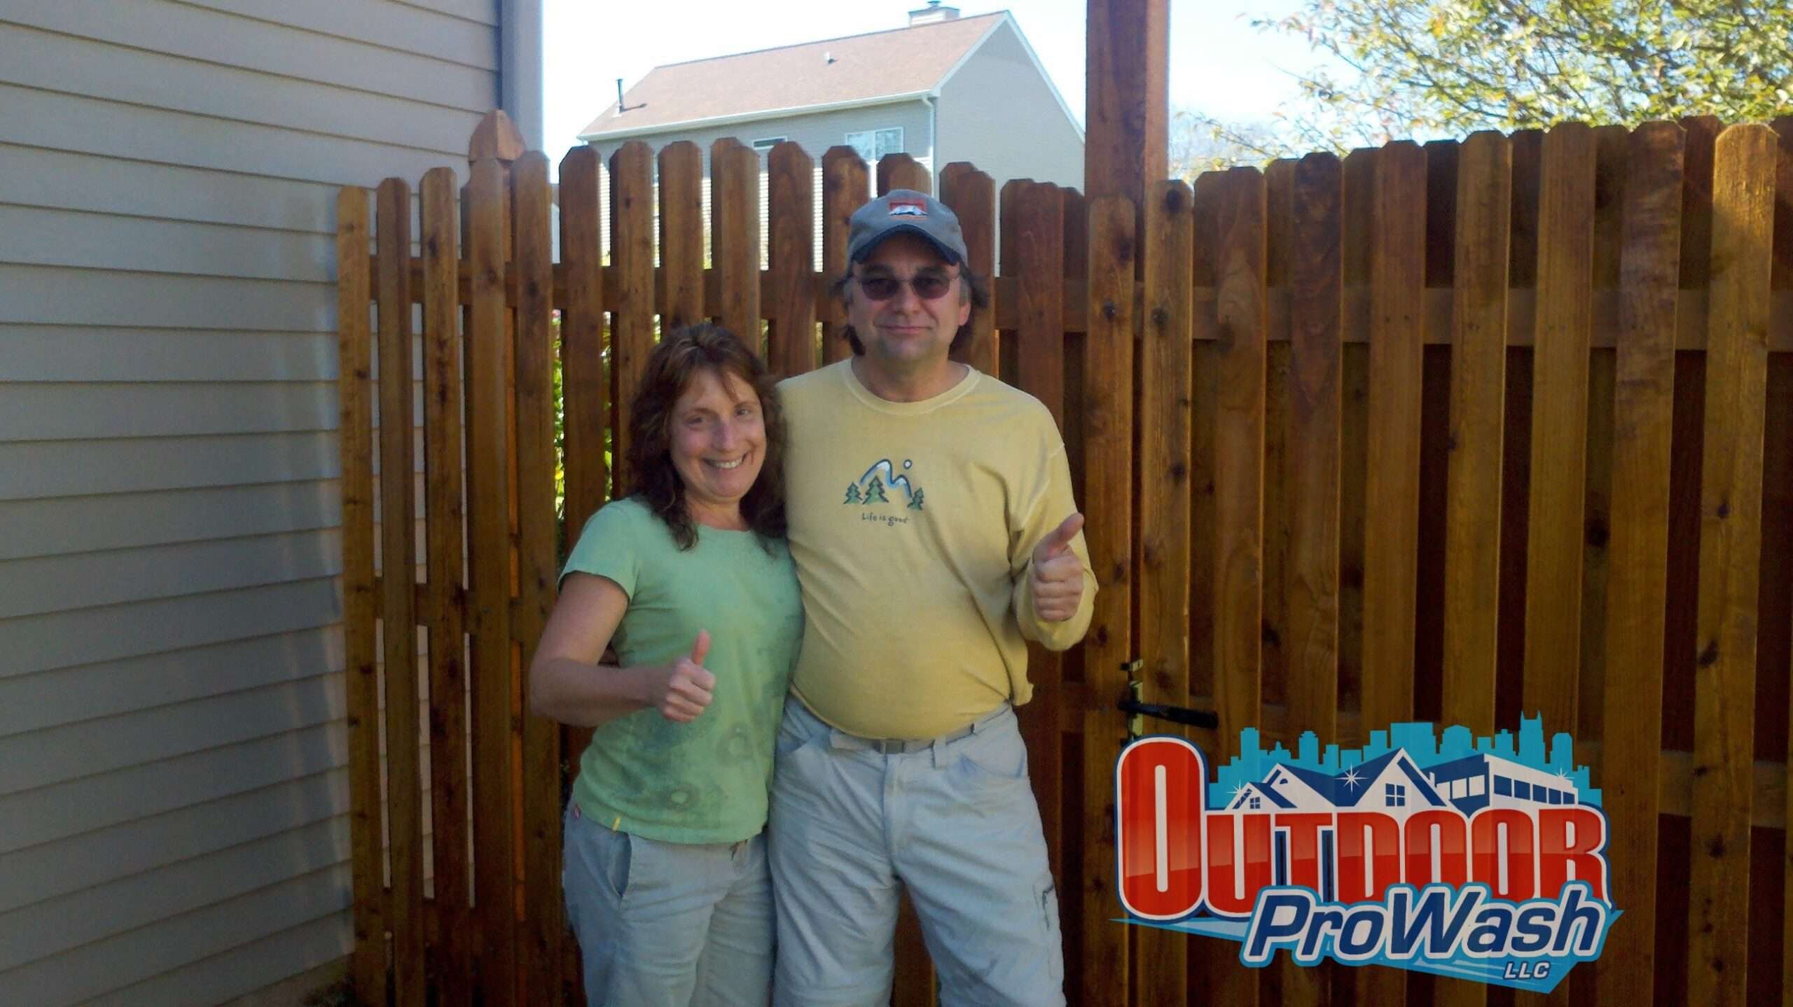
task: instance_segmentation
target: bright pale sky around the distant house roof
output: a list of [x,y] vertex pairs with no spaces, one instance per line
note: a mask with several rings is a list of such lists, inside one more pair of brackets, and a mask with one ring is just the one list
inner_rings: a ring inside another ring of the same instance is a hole
[[[545,0],[545,147],[563,152],[579,129],[663,63],[898,29],[925,0]],[[963,16],[1008,9],[1083,122],[1087,0],[959,0]],[[1291,72],[1318,63],[1307,43],[1260,32],[1296,0],[1171,0],[1171,108],[1234,122],[1268,120],[1296,97]],[[558,158],[556,158],[558,159]]]

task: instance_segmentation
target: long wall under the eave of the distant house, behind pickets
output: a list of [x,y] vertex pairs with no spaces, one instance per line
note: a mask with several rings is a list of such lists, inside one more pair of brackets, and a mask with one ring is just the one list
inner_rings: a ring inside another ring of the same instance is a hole
[[[821,265],[821,156],[828,152],[828,147],[839,147],[846,143],[848,133],[861,133],[868,129],[902,129],[904,154],[909,154],[922,163],[927,170],[934,170],[934,151],[932,151],[932,113],[925,102],[920,99],[907,102],[893,102],[884,106],[864,106],[853,109],[823,111],[812,115],[796,115],[787,118],[766,118],[757,122],[737,122],[733,125],[721,125],[714,129],[692,129],[680,133],[662,133],[653,136],[640,136],[644,143],[654,149],[658,154],[662,147],[676,143],[680,140],[690,140],[703,149],[703,213],[705,220],[710,219],[710,143],[723,140],[724,136],[733,136],[742,143],[753,143],[755,140],[769,140],[773,136],[782,136],[803,147],[803,152],[816,161],[816,265]],[[604,163],[610,163],[610,156],[617,152],[628,140],[599,140],[592,147],[599,152]],[[870,183],[877,183],[877,167],[871,167]],[[866,197],[871,197],[870,188]],[[604,242],[610,242],[610,179],[608,172],[601,172],[601,197],[599,202],[604,206]],[[760,262],[766,263],[766,240],[771,233],[767,226],[767,195],[766,195],[766,172],[760,172]],[[705,249],[708,249],[708,228],[705,228]]]

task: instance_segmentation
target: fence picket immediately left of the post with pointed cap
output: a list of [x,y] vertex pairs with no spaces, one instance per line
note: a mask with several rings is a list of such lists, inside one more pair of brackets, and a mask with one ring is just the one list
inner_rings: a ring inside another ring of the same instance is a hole
[[[423,495],[425,604],[430,683],[430,831],[434,903],[441,919],[437,991],[445,1005],[472,1003],[473,948],[470,934],[468,794],[466,794],[466,661],[461,611],[461,305],[459,186],[454,168],[423,176]],[[448,769],[443,772],[443,769]]]

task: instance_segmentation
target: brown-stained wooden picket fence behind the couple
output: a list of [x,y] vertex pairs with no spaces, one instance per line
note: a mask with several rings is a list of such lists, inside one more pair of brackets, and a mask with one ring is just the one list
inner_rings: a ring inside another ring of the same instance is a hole
[[[667,147],[656,170],[620,149],[608,260],[590,149],[559,167],[559,262],[540,152],[473,163],[464,192],[427,174],[418,254],[403,181],[371,219],[369,194],[342,190],[364,1003],[579,1000],[559,815],[581,738],[525,717],[520,681],[561,534],[556,355],[577,530],[628,491],[606,432],[620,457],[656,321],[764,321],[787,374],[845,353],[825,290],[870,168],[832,149],[818,194],[810,156],[775,147],[762,271],[760,161],[724,140],[710,163],[705,222],[701,151]],[[932,179],[886,158],[893,186]],[[1483,735],[1542,711],[1594,765],[1624,910],[1553,1000],[1793,1005],[1793,120],[1314,154],[1162,183],[1142,213],[1029,181],[999,194],[970,165],[943,168],[940,195],[997,274],[966,358],[1061,423],[1101,579],[1088,638],[1033,654],[1022,710],[1072,1003],[1515,1000],[1382,968],[1246,969],[1235,944],[1113,923],[1115,699],[1140,658],[1146,699],[1219,711],[1191,731],[1212,762],[1244,726],[1357,745],[1397,720]],[[371,416],[412,416],[414,348],[421,441]],[[377,525],[420,495],[421,538]],[[905,916],[896,1002],[932,1000]]]

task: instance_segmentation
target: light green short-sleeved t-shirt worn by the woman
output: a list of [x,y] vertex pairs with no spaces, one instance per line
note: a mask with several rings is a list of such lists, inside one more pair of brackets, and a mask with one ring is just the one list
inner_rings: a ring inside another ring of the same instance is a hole
[[567,573],[608,577],[629,595],[611,645],[622,667],[669,665],[710,631],[710,706],[689,724],[637,710],[592,735],[574,801],[617,831],[667,842],[739,842],[766,828],[773,736],[803,640],[785,543],[697,525],[680,552],[638,498],[592,514]]

